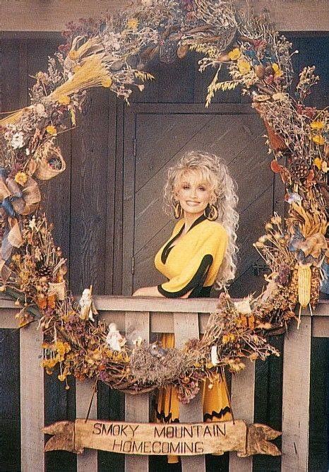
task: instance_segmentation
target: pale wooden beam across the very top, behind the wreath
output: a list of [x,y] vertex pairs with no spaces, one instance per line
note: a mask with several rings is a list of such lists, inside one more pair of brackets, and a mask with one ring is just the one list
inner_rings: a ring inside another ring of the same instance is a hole
[[[135,3],[139,3],[137,0]],[[239,0],[238,4],[246,5]],[[0,4],[0,29],[12,31],[61,31],[69,20],[99,18],[128,6],[128,0],[6,0]],[[328,30],[326,0],[251,0],[256,13],[269,12],[281,31]]]

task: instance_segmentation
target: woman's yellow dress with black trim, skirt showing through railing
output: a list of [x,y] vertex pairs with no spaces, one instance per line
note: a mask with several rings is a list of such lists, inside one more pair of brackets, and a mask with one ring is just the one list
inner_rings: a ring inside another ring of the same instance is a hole
[[[209,297],[227,247],[227,232],[220,223],[201,216],[173,246],[183,230],[184,220],[179,220],[169,241],[155,256],[155,267],[168,279],[157,285],[157,289],[165,297],[182,297],[189,290],[189,297]],[[174,347],[174,334],[162,335],[162,347]],[[201,394],[204,421],[232,420],[225,378],[220,376],[211,389],[207,380],[203,383]],[[156,420],[179,422],[179,400],[174,387],[159,391]],[[168,460],[177,462],[178,457],[169,456]]]

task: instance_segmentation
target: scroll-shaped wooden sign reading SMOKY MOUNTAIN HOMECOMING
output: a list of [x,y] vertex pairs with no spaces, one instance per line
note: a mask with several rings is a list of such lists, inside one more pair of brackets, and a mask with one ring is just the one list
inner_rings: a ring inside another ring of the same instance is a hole
[[247,425],[244,420],[162,424],[77,419],[54,423],[43,431],[54,435],[45,445],[45,451],[64,449],[79,454],[89,447],[147,455],[194,456],[226,451],[237,451],[240,457],[281,454],[275,444],[268,442],[280,436],[280,432],[265,425]]

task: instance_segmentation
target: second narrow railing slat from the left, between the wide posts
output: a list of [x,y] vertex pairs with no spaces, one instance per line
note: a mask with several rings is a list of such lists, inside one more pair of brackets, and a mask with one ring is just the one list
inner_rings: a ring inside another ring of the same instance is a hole
[[[138,338],[149,341],[150,339],[150,313],[148,312],[126,312],[126,338],[129,342]],[[148,394],[129,395],[125,397],[126,421],[149,421]],[[148,471],[148,456],[126,455],[126,472]]]

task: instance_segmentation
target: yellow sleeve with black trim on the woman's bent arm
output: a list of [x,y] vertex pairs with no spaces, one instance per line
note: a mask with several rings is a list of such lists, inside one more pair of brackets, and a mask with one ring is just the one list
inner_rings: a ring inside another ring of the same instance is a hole
[[222,259],[227,247],[227,233],[225,230],[216,230],[211,234],[205,234],[203,244],[196,251],[189,263],[181,268],[178,276],[171,278],[168,282],[157,285],[157,290],[164,297],[182,297],[189,290],[193,290],[193,296],[198,296],[208,276],[210,266],[216,273],[220,269]]

